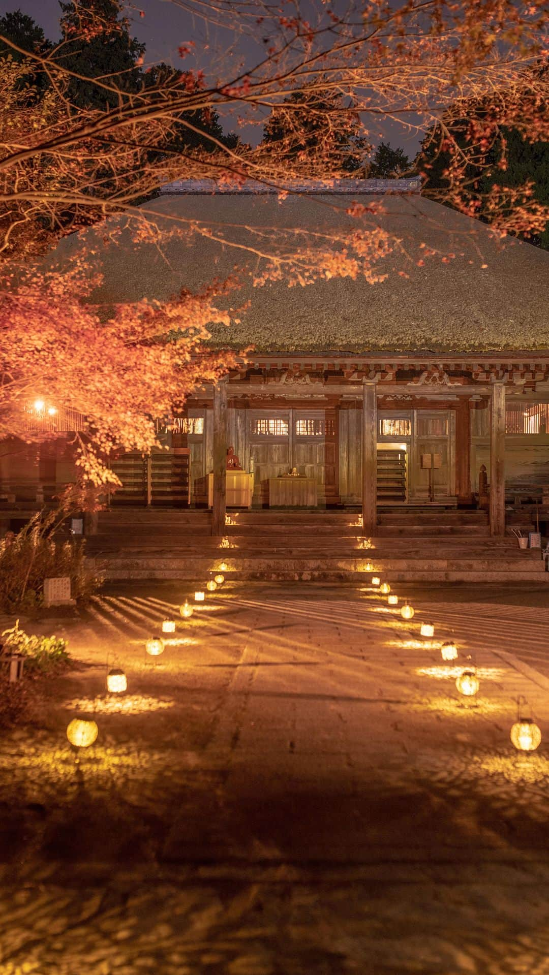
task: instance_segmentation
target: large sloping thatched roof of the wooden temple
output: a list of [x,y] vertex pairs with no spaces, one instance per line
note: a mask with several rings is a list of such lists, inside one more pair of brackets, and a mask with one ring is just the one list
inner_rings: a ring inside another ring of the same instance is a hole
[[[369,205],[380,198],[356,199]],[[359,274],[304,288],[289,289],[283,282],[252,287],[264,261],[246,248],[284,252],[294,230],[330,235],[360,226],[345,214],[349,202],[330,194],[282,202],[273,194],[164,195],[142,208],[154,212],[161,226],[206,221],[227,243],[197,234],[190,244],[174,237],[160,250],[154,242],[135,244],[124,230],[115,245],[105,247],[104,229],[92,229],[61,242],[57,254],[62,259],[75,248],[98,249],[102,301],[165,299],[181,287],[195,291],[214,276],[224,277],[235,265],[244,267],[244,288],[229,303],[249,299],[250,307],[240,324],[213,328],[216,345],[354,353],[549,348],[549,254],[512,238],[496,242],[484,224],[417,195],[385,196],[387,214],[366,218],[366,226],[378,222],[402,242],[378,262],[387,280],[370,284]],[[119,219],[124,222],[119,217],[110,222],[115,226]],[[303,242],[298,234],[294,239]],[[422,244],[439,253],[417,266]],[[444,263],[448,254],[455,256]]]

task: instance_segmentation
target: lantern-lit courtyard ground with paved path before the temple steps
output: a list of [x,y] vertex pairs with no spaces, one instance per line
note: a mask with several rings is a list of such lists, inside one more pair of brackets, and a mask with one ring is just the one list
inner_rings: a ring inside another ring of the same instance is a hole
[[0,975],[549,975],[546,587],[398,587],[407,622],[368,584],[231,584],[182,620],[190,591],[25,624],[76,666],[0,738]]

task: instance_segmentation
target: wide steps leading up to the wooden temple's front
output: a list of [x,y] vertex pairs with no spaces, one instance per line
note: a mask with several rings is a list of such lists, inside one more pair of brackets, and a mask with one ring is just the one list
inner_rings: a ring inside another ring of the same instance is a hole
[[[531,529],[521,516],[510,518]],[[511,534],[491,538],[482,511],[381,510],[368,540],[348,512],[251,511],[231,519],[221,539],[206,511],[102,512],[87,551],[108,579],[204,580],[225,562],[227,579],[242,580],[356,582],[371,563],[389,582],[549,581],[539,550],[519,549]]]

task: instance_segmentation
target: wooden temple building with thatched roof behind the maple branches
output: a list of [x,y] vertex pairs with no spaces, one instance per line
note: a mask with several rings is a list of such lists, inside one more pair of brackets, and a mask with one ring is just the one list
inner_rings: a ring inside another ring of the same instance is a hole
[[[104,251],[108,302],[195,291],[235,266],[259,274],[263,233],[282,259],[292,235],[305,253],[309,235],[349,229],[351,201],[372,208],[365,225],[394,242],[373,261],[373,283],[359,268],[230,295],[249,306],[230,328],[213,327],[212,342],[252,351],[196,392],[173,429],[161,425],[168,451],[117,459],[124,487],[112,504],[211,507],[214,535],[232,508],[358,509],[374,535],[379,511],[480,506],[502,535],[506,509],[549,491],[549,254],[497,241],[423,198],[416,180],[295,189],[306,192],[281,201],[253,185],[171,184],[148,205],[158,222],[200,221],[212,233],[191,246],[174,236],[160,253],[125,244],[123,231]],[[79,246],[61,242],[61,259]],[[59,443],[32,470],[25,463],[4,461],[4,505],[48,497],[73,476]]]

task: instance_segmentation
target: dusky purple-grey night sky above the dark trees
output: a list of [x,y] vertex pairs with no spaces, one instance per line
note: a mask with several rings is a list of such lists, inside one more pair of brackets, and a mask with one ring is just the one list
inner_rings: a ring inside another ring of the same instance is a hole
[[[36,20],[49,40],[59,39],[59,0],[0,0],[0,15],[18,9]],[[144,18],[139,16],[140,11]],[[234,76],[241,64],[254,65],[264,54],[262,45],[253,38],[194,18],[170,0],[138,0],[126,13],[133,36],[146,44],[145,64],[162,60],[176,68],[200,67],[212,83]],[[195,42],[198,55],[181,59],[177,48],[189,40]],[[205,46],[208,46],[206,51]],[[221,116],[221,123],[226,131],[239,128],[233,115]],[[420,141],[415,134],[410,135],[394,123],[385,122],[377,127],[391,145],[400,145],[411,157],[415,155]],[[253,143],[261,137],[260,127],[246,126],[240,132]],[[372,141],[377,142],[373,134]]]

